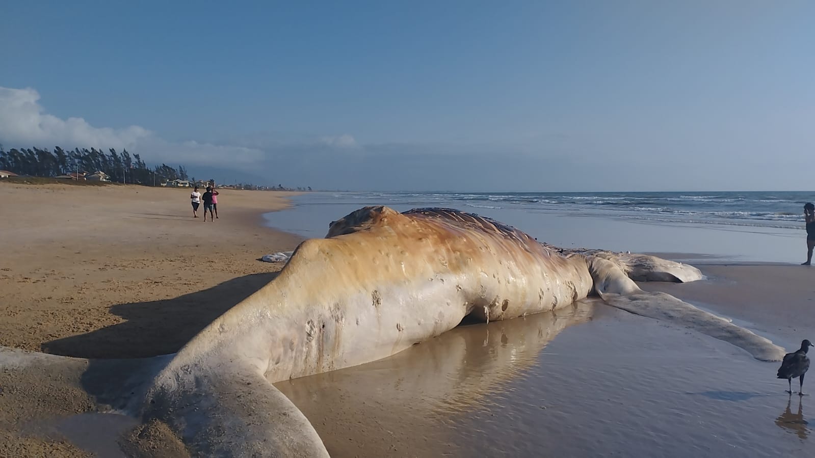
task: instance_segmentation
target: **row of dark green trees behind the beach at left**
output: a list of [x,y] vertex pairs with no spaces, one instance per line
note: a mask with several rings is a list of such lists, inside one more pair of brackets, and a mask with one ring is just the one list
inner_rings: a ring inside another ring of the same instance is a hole
[[178,165],[176,169],[161,164],[151,169],[139,154],[133,153],[131,156],[126,149],[117,152],[115,148],[105,153],[95,148],[75,148],[72,151],[59,147],[55,147],[53,152],[48,148],[11,148],[5,151],[0,146],[0,170],[34,177],[102,171],[115,182],[156,185],[163,181],[187,179],[187,170],[183,165]]

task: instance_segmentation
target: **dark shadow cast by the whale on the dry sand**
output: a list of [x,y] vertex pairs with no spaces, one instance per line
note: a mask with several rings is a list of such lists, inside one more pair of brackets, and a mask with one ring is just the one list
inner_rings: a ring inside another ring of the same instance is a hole
[[111,306],[127,321],[77,336],[48,341],[42,351],[90,359],[145,358],[178,351],[223,312],[277,276],[252,274],[172,299]]

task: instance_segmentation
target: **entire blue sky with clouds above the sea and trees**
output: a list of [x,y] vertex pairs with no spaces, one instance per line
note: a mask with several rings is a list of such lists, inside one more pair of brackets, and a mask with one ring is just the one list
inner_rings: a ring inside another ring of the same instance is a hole
[[813,188],[813,2],[2,10],[6,148],[361,190]]

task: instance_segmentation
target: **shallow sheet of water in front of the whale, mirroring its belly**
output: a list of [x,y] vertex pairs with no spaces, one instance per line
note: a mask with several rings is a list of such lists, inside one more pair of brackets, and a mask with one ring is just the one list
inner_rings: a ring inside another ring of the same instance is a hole
[[812,456],[777,368],[586,300],[275,385],[332,456]]

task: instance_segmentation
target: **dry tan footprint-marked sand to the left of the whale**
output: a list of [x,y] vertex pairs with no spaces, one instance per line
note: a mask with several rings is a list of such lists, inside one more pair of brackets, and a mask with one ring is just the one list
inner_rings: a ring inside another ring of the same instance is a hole
[[[301,240],[261,224],[292,193],[221,190],[220,218],[204,222],[200,210],[192,218],[191,191],[0,183],[0,346],[83,358],[173,353],[280,271],[262,254]],[[0,456],[85,456],[19,427],[91,406],[67,374],[0,372]]]

